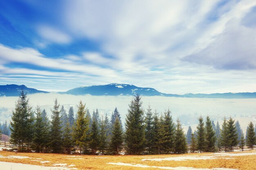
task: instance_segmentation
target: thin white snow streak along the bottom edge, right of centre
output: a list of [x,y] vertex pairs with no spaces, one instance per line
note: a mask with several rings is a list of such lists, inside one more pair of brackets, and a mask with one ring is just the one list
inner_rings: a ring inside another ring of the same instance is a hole
[[159,169],[165,169],[165,170],[236,170],[236,169],[230,169],[230,168],[193,168],[193,167],[184,167],[184,166],[178,166],[178,167],[168,167],[168,166],[148,166],[148,165],[141,165],[141,164],[130,164],[130,163],[108,163],[112,165],[118,165],[118,166],[134,166],[134,167],[140,167],[140,168],[159,168]]

